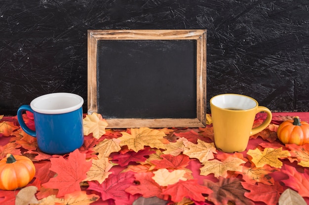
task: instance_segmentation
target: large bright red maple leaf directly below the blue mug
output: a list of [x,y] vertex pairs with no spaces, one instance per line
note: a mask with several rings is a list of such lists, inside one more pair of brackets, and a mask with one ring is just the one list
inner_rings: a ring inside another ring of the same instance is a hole
[[67,160],[60,156],[59,158],[50,158],[50,161],[50,170],[58,175],[42,184],[42,186],[59,189],[57,197],[81,190],[79,182],[87,177],[86,172],[92,165],[91,161],[86,162],[85,154],[76,149],[69,154]]

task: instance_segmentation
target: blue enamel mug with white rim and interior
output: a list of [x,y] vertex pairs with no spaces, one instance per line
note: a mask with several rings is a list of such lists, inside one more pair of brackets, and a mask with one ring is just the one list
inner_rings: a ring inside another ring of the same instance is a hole
[[[77,94],[58,92],[39,96],[17,111],[21,128],[36,137],[38,147],[48,154],[65,154],[83,144],[82,105]],[[35,130],[27,127],[23,111],[34,114]]]

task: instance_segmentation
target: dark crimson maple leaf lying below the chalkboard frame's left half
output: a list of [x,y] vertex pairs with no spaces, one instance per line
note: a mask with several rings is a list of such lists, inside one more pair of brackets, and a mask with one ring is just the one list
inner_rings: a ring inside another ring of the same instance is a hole
[[145,156],[149,156],[153,153],[155,153],[154,150],[150,150],[150,147],[146,147],[138,152],[128,151],[124,154],[115,153],[113,160],[117,160],[117,163],[123,167],[128,165],[130,162],[144,162],[147,159]]

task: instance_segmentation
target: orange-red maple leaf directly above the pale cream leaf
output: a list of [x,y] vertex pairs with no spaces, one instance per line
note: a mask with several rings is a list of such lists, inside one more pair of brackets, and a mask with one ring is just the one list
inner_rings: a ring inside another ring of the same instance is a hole
[[171,154],[162,154],[160,155],[163,159],[161,160],[152,160],[151,163],[153,163],[155,166],[155,169],[182,169],[189,165],[189,162],[191,159],[189,156],[185,154],[180,154],[177,156],[173,156]]

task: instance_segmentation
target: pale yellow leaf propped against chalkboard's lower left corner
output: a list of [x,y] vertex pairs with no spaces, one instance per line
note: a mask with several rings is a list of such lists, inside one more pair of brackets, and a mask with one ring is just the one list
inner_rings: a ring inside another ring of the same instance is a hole
[[83,130],[84,135],[93,134],[93,137],[99,139],[104,135],[105,128],[107,127],[107,121],[98,113],[92,113],[83,118]]

